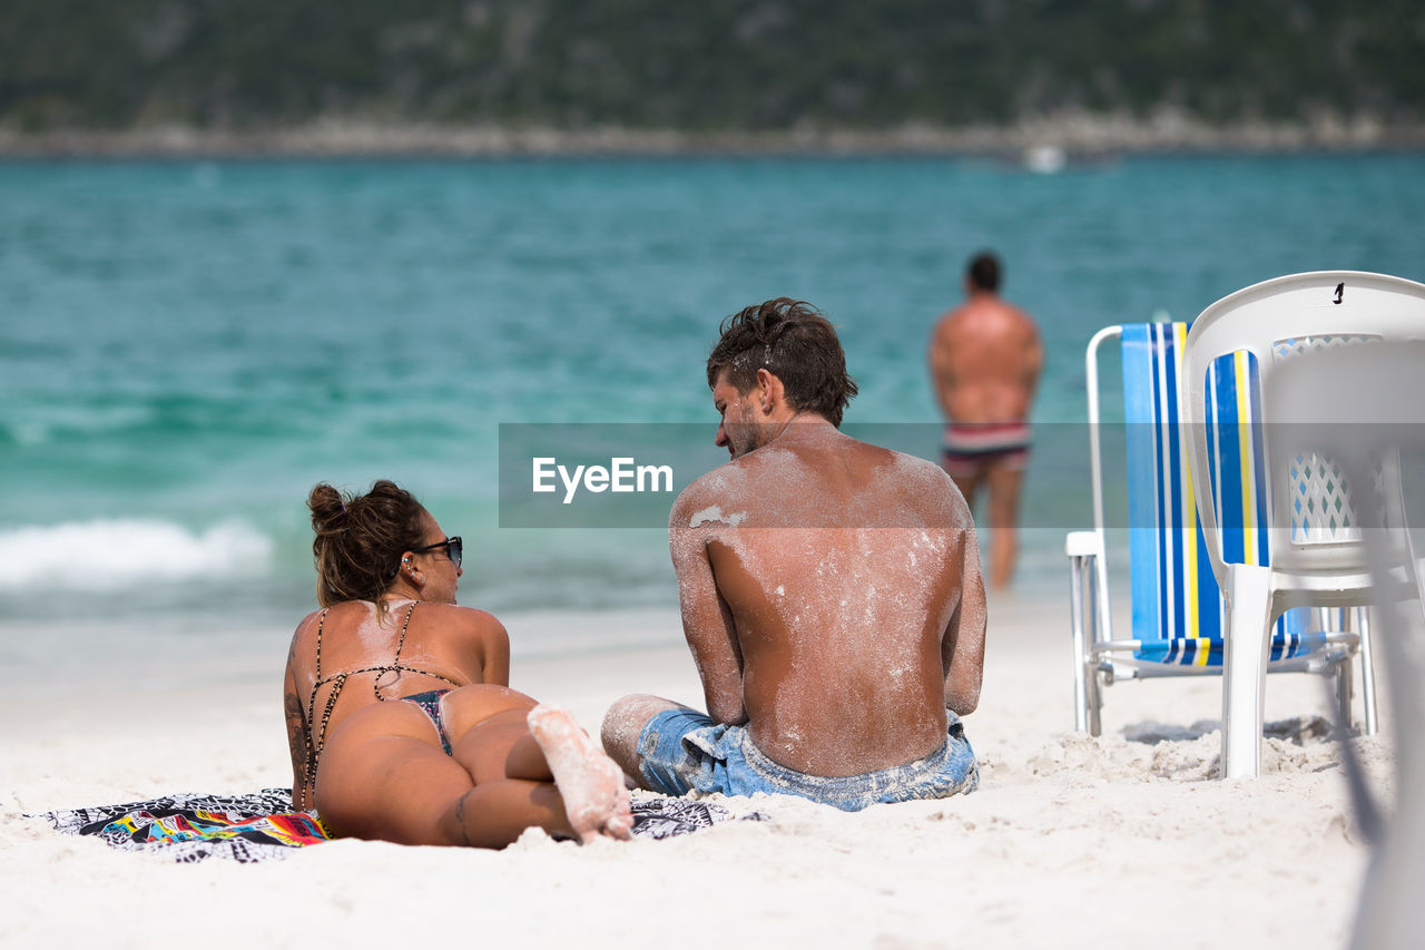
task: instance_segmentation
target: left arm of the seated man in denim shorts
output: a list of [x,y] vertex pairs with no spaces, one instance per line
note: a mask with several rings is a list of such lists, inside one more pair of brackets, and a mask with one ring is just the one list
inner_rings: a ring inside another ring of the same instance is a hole
[[691,528],[695,505],[688,492],[678,496],[668,521],[668,548],[678,575],[683,635],[693,650],[708,715],[721,723],[747,722],[742,705],[742,653],[732,613],[717,592],[707,538],[714,528]]

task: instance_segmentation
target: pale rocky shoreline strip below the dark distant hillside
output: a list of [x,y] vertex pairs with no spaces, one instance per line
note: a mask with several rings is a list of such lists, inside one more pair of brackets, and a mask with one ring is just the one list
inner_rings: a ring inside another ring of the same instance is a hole
[[626,127],[437,126],[325,118],[264,130],[154,126],[121,131],[0,127],[0,157],[671,157],[671,155],[995,155],[1069,158],[1151,153],[1291,153],[1425,148],[1425,124],[1321,114],[1308,121],[1208,124],[1161,111],[1151,118],[1063,114],[1013,126],[886,130],[687,131]]

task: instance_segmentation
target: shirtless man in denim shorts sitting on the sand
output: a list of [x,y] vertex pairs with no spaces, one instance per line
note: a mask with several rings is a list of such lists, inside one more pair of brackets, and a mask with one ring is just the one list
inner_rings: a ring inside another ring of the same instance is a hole
[[643,787],[799,795],[845,810],[979,785],[985,589],[969,508],[936,465],[839,431],[856,384],[832,325],[787,298],[722,324],[707,364],[732,459],[668,519],[708,715],[608,710]]

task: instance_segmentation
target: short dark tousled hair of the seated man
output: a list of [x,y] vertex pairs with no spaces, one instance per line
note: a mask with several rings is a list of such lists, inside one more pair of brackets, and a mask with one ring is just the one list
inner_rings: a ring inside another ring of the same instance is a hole
[[836,328],[805,301],[778,297],[754,304],[722,321],[722,337],[708,355],[708,388],[727,369],[738,392],[757,384],[767,369],[782,381],[787,402],[801,412],[819,412],[835,427],[856,395],[846,375],[846,354]]

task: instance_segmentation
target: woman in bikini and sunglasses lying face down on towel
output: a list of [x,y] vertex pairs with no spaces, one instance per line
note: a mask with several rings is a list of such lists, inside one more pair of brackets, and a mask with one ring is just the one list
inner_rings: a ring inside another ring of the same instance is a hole
[[628,837],[623,773],[569,712],[509,689],[510,642],[456,606],[460,539],[389,481],[306,499],[316,599],[284,682],[292,797],[336,836],[503,847]]

